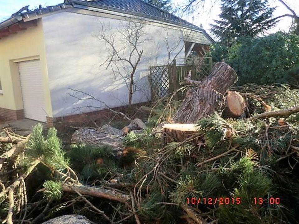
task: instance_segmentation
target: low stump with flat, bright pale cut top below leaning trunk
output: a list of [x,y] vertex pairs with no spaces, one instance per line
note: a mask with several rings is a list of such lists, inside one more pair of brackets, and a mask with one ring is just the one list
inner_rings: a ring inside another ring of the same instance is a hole
[[[164,135],[164,142],[182,142],[186,138],[197,133],[198,126],[196,124],[164,124],[162,130],[166,133]],[[197,144],[198,138],[195,138],[193,144]]]

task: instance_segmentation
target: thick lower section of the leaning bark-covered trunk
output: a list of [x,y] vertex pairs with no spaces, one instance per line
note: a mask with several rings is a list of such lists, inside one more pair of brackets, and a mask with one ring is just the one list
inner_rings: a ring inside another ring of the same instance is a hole
[[189,92],[189,97],[174,114],[174,123],[194,124],[198,119],[224,109],[224,96],[210,86],[200,86],[195,90]]

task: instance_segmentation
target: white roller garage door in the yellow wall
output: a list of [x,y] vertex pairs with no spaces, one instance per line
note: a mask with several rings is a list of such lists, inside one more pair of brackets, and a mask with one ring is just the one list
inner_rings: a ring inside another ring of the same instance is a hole
[[19,62],[18,64],[25,117],[45,122],[45,97],[40,60]]

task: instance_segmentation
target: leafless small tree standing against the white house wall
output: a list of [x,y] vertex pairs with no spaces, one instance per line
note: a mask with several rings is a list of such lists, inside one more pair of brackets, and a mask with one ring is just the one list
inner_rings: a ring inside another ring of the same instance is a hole
[[120,25],[111,34],[112,29],[102,24],[101,33],[97,37],[105,42],[109,52],[107,60],[101,66],[110,68],[115,78],[121,77],[125,81],[129,90],[128,104],[131,107],[132,96],[137,90],[134,76],[143,54],[141,45],[147,40],[144,38],[145,24],[140,21],[124,21]]

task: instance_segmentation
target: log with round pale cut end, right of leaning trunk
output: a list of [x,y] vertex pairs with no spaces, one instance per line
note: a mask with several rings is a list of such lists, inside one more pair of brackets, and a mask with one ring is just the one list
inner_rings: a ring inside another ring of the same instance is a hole
[[235,118],[244,114],[246,104],[243,96],[236,91],[227,91],[223,118]]

